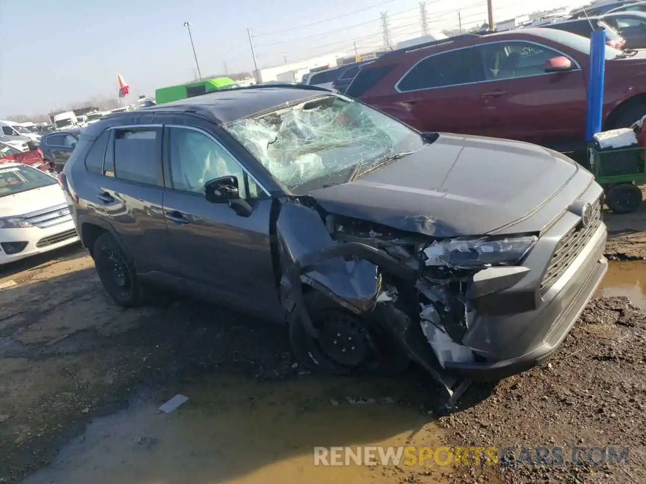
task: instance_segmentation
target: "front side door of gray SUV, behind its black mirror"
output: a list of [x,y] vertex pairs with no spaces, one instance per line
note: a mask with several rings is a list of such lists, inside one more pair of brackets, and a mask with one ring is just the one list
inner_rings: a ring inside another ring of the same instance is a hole
[[[176,257],[172,274],[229,305],[283,314],[271,259],[271,197],[213,133],[180,125],[167,125],[165,133],[169,176],[163,210]],[[251,215],[207,201],[205,183],[222,176],[236,177]]]

